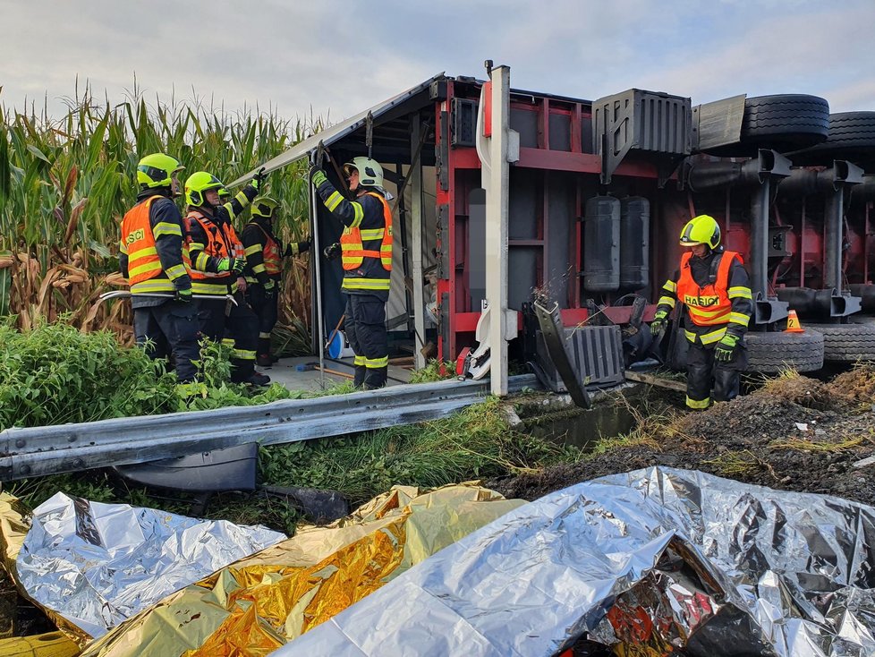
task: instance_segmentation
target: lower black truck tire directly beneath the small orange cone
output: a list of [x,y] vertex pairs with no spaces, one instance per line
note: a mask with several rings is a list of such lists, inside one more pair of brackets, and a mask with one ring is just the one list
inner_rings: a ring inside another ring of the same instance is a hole
[[791,367],[795,371],[817,371],[823,367],[823,334],[819,331],[749,331],[744,336],[744,344],[750,371],[774,374]]

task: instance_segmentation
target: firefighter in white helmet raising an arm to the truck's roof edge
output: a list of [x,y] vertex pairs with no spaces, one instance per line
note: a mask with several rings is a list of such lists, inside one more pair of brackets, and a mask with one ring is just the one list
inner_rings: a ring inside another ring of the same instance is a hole
[[325,207],[344,223],[339,244],[325,250],[330,260],[339,252],[344,266],[346,295],[344,328],[355,354],[356,388],[386,385],[389,347],[386,302],[392,271],[392,211],[383,189],[383,168],[370,158],[353,158],[344,165],[354,201],[347,201],[328,182],[319,166],[310,181]]

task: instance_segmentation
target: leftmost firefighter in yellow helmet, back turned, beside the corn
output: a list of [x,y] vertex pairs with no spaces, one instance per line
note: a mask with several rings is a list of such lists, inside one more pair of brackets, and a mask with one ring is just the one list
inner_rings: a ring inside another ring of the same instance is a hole
[[176,378],[197,379],[200,358],[198,322],[191,303],[189,254],[183,218],[173,201],[183,166],[169,155],[140,160],[137,204],[122,219],[119,270],[131,286],[133,333],[151,358],[173,354]]

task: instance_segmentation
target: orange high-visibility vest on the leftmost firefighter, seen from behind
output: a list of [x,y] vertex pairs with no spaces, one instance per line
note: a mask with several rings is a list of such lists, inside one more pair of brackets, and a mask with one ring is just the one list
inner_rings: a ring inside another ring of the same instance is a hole
[[[175,292],[173,281],[161,267],[155,245],[155,234],[149,220],[149,209],[158,195],[137,203],[122,219],[123,251],[128,254],[128,285],[132,294]],[[180,227],[182,233],[182,227]],[[183,266],[191,275],[188,245],[183,242]],[[182,273],[182,272],[180,272]]]

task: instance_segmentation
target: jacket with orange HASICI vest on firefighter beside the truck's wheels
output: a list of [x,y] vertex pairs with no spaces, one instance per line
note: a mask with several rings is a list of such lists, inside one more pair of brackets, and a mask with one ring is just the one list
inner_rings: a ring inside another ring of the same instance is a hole
[[691,342],[713,345],[727,331],[743,336],[753,300],[741,256],[727,251],[693,259],[684,253],[675,279],[662,288],[658,310],[670,311],[675,300],[684,304],[684,335]]

